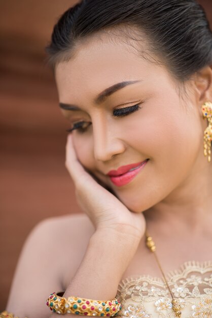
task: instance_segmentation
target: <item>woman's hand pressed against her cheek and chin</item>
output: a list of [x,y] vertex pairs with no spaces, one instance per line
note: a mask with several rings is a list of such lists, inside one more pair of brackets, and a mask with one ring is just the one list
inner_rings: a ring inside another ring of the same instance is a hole
[[96,231],[115,230],[140,240],[146,222],[143,213],[130,211],[109,189],[97,182],[79,162],[74,149],[72,135],[66,142],[66,161],[70,176],[75,184],[75,193],[82,210],[89,216]]

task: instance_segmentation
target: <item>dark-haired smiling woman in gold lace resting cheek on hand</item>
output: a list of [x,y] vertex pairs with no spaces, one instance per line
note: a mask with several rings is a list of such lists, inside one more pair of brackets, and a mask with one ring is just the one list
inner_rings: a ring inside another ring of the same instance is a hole
[[212,317],[212,35],[201,6],[85,0],[47,51],[85,213],[31,232],[7,311]]

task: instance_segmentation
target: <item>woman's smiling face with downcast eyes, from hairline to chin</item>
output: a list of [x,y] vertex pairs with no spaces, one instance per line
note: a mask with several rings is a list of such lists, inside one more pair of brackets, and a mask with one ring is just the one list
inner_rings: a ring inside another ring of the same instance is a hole
[[[79,161],[130,210],[144,211],[166,198],[202,160],[203,131],[192,89],[189,98],[180,97],[183,89],[179,93],[167,69],[136,56],[127,44],[89,40],[68,62],[59,62],[55,76],[59,102],[76,106],[62,109],[70,128],[84,122],[72,132]],[[130,81],[97,102],[100,92]],[[127,175],[115,183],[107,175],[146,159],[129,182]]]

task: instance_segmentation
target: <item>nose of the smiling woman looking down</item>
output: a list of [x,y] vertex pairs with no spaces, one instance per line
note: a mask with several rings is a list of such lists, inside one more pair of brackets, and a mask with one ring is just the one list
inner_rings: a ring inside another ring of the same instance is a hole
[[125,150],[125,144],[117,136],[115,123],[107,119],[98,118],[92,121],[93,126],[93,152],[94,158],[98,161],[109,161],[116,154]]

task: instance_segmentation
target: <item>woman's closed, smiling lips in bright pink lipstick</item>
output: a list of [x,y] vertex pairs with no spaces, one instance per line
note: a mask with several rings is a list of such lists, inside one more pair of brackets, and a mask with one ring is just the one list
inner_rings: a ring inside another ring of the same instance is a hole
[[[149,159],[146,159],[143,162],[121,166],[117,170],[109,171],[108,176],[110,177],[111,181],[116,186],[125,185],[129,183],[138,174],[138,172],[146,166],[148,161]],[[132,171],[129,171],[132,168],[135,168],[135,169],[133,169]]]

